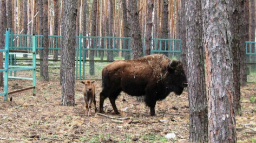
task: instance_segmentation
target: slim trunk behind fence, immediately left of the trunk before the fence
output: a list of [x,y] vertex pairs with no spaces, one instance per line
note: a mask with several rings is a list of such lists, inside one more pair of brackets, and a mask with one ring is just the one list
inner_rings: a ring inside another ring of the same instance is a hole
[[[40,0],[38,1],[38,15],[39,15],[39,33],[38,34],[43,35],[43,1],[40,1]],[[39,50],[39,58],[40,58],[40,76],[43,76],[43,49]]]

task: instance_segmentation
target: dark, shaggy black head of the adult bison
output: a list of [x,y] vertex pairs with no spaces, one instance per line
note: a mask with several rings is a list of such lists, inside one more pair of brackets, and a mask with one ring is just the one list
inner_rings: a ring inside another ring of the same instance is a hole
[[169,91],[180,95],[185,87],[187,87],[187,78],[180,61],[172,61],[167,66],[166,88]]

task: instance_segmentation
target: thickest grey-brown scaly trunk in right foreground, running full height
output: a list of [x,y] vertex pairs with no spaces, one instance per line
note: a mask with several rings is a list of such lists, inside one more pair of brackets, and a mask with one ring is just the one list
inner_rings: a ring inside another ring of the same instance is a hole
[[236,142],[230,3],[202,1],[209,142]]

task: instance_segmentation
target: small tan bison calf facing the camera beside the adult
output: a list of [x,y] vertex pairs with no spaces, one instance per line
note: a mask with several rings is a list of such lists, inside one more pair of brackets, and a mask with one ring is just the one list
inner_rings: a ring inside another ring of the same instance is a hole
[[81,81],[81,83],[84,84],[83,86],[83,99],[85,102],[85,109],[86,109],[86,115],[91,115],[91,103],[94,103],[95,106],[95,112],[97,112],[96,108],[96,100],[95,100],[95,87],[94,87],[94,81]]

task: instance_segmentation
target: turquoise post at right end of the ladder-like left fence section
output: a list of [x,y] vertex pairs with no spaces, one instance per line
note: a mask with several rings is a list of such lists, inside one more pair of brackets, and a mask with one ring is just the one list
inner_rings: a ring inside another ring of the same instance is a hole
[[35,87],[33,89],[33,96],[36,96],[36,36],[33,34],[32,36],[32,66],[33,66],[33,86]]

